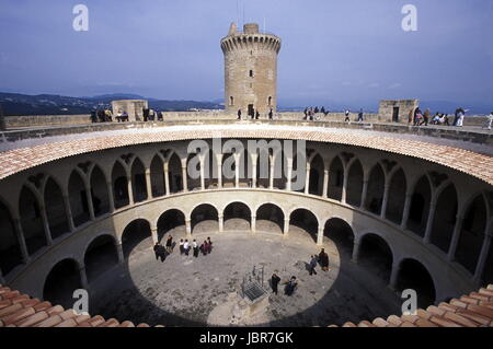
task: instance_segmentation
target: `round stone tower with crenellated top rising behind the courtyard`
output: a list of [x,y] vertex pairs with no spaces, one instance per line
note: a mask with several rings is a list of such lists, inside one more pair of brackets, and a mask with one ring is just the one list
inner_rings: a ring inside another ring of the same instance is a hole
[[242,118],[259,110],[265,117],[277,106],[277,54],[280,38],[261,34],[259,24],[245,24],[243,33],[231,24],[221,39],[225,54],[225,109]]

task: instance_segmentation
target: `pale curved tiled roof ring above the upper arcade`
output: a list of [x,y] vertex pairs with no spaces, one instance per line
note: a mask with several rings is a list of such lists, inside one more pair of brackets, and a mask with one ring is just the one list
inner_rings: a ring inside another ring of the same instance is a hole
[[215,126],[215,129],[196,127],[181,130],[139,130],[125,135],[84,138],[10,150],[0,153],[0,179],[50,161],[104,149],[209,138],[293,139],[364,147],[431,161],[493,185],[492,158],[465,149],[382,136],[307,130],[302,127],[296,130],[278,127],[248,129],[241,126],[227,128],[220,125]]

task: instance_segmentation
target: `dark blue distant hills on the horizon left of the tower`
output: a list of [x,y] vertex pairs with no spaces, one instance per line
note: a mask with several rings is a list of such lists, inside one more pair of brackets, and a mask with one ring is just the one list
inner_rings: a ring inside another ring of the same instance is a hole
[[76,115],[89,114],[98,108],[111,108],[115,100],[148,100],[149,107],[161,112],[186,112],[196,109],[222,109],[214,102],[161,101],[137,94],[105,94],[93,97],[70,97],[54,94],[27,95],[0,92],[0,103],[5,116],[14,115]]

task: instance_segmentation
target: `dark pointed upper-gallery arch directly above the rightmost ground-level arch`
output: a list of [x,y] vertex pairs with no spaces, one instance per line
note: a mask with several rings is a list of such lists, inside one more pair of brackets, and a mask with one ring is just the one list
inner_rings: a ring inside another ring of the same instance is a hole
[[429,183],[428,177],[423,175],[414,185],[406,224],[409,230],[421,237],[425,234],[431,201],[432,184]]

